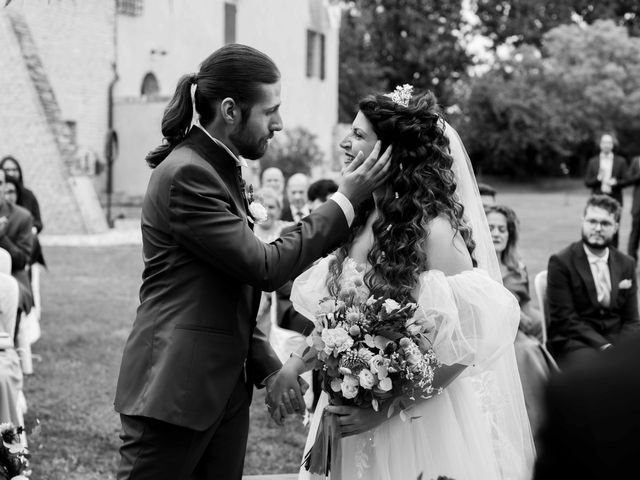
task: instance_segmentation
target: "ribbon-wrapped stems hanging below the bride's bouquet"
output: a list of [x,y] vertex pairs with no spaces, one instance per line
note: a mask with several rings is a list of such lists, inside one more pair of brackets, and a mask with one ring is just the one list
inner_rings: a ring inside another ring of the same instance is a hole
[[338,417],[328,412],[323,412],[316,432],[316,439],[302,460],[302,466],[305,470],[314,475],[331,478],[331,480],[342,480],[340,476],[340,464],[342,463],[341,436]]

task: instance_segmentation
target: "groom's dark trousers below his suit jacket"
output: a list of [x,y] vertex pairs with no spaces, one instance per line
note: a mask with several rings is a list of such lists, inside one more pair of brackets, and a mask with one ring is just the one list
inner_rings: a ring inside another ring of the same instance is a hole
[[203,431],[120,415],[118,480],[241,480],[253,385],[244,375],[225,413]]

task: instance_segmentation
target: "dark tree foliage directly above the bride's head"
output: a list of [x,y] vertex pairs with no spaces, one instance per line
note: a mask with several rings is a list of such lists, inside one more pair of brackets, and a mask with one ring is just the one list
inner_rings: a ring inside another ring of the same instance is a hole
[[340,29],[340,121],[358,100],[411,83],[450,104],[453,85],[471,59],[460,42],[462,0],[354,0]]

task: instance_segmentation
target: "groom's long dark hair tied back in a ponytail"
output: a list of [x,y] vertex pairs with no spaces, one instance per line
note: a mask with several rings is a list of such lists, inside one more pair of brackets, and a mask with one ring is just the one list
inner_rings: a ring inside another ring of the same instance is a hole
[[[214,119],[216,101],[233,98],[242,112],[243,126],[251,107],[260,99],[261,84],[280,80],[271,58],[255,48],[232,43],[219,48],[200,64],[200,71],[183,75],[162,117],[162,145],[149,152],[146,161],[157,167],[184,140],[191,128],[193,103],[205,126]],[[196,85],[194,102],[191,86]]]

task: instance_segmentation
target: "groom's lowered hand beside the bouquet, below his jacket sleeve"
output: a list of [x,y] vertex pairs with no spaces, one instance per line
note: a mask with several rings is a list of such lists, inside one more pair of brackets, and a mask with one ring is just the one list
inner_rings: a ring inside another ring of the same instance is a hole
[[309,385],[295,372],[283,368],[267,379],[266,387],[267,409],[278,425],[284,424],[287,415],[304,413],[306,406],[303,395]]

